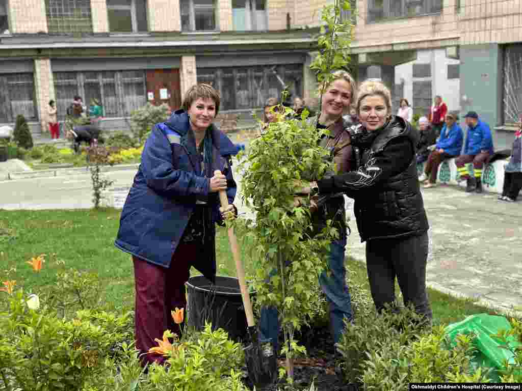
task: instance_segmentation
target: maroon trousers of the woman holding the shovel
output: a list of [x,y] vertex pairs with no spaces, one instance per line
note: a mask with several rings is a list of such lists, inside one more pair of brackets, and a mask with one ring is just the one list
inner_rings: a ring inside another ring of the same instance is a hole
[[[174,323],[171,311],[185,308],[185,283],[190,273],[192,260],[198,253],[193,243],[181,243],[172,255],[169,268],[158,266],[133,256],[134,279],[136,287],[135,337],[136,348],[147,353],[158,346],[155,338],[162,339],[167,329],[181,334],[180,326]],[[145,354],[141,362],[163,363],[164,358],[157,354]]]

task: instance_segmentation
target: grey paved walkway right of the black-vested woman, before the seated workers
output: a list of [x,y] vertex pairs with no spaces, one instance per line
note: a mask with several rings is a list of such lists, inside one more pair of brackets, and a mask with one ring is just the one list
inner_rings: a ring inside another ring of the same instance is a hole
[[[466,193],[456,186],[422,191],[430,222],[426,280],[452,296],[522,316],[522,201],[496,193]],[[364,261],[352,212],[347,254]]]

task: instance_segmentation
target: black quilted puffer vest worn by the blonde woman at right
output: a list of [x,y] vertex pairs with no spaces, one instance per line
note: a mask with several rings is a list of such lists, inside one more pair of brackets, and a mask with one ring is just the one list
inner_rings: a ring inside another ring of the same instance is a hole
[[[384,150],[396,137],[407,137],[415,150],[416,131],[402,118],[392,116],[386,127],[378,131],[370,148],[361,150],[360,163],[366,164],[373,154]],[[357,146],[355,141],[352,144]],[[429,224],[420,192],[415,154],[404,172],[355,198],[354,212],[361,241],[425,233]]]

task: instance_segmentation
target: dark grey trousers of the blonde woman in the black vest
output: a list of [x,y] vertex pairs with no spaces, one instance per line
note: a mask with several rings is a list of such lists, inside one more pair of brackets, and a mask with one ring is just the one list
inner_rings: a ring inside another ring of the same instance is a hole
[[404,297],[418,314],[432,318],[426,293],[428,233],[407,238],[373,239],[366,243],[366,270],[377,311],[395,301],[395,277]]

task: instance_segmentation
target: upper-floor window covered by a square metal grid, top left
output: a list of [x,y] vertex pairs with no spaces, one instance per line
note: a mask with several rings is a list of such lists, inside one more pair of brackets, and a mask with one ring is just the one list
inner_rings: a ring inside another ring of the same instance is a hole
[[92,33],[90,0],[45,0],[49,33]]

